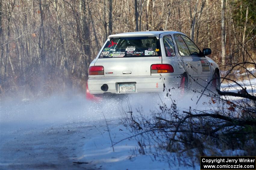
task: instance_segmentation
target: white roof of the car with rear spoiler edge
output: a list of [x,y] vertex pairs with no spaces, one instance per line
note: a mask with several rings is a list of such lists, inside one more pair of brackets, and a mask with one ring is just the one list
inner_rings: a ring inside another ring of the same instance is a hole
[[[137,31],[137,32],[124,32],[119,34],[113,34],[108,36],[108,40],[111,38],[118,38],[118,37],[157,37],[159,39],[159,35],[167,32],[172,33],[180,33],[177,31]],[[183,33],[180,33],[183,34]]]

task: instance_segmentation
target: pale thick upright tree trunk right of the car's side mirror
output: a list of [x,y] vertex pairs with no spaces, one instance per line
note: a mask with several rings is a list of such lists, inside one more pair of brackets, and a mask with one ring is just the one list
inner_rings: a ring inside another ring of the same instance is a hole
[[226,42],[225,42],[225,4],[224,0],[221,0],[221,64],[226,64]]

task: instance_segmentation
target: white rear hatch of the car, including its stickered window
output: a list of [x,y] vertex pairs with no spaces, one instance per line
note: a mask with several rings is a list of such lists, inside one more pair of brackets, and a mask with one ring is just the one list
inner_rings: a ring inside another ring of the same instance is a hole
[[150,76],[151,65],[161,63],[156,37],[120,37],[106,43],[95,66],[104,67],[105,77]]

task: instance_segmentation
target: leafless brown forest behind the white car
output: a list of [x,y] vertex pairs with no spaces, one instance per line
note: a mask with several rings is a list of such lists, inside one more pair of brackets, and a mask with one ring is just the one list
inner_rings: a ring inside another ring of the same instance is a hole
[[1,94],[84,90],[107,36],[128,31],[183,32],[212,49],[220,70],[255,63],[255,7],[255,0],[0,0]]

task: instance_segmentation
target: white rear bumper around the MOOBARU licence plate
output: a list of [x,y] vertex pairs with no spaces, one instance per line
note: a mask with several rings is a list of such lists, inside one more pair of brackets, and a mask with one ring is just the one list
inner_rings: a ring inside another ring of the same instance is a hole
[[[161,79],[160,79],[161,78]],[[171,76],[125,76],[125,77],[90,77],[87,81],[90,94],[118,93],[118,84],[136,83],[136,93],[161,92],[164,85],[167,88],[180,86],[180,75]],[[101,86],[108,85],[108,91],[102,91]]]

